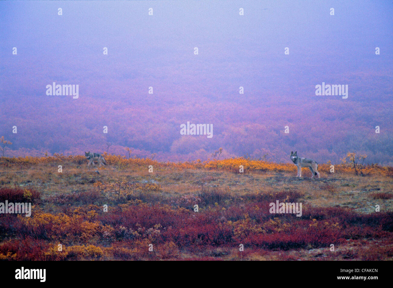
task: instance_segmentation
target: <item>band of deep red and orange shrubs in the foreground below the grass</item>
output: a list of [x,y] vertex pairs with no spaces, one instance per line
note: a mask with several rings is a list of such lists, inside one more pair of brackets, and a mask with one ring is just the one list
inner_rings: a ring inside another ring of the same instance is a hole
[[[239,243],[253,249],[287,250],[329,247],[331,243],[340,246],[367,238],[393,239],[392,213],[362,215],[338,207],[308,205],[303,207],[302,217],[269,213],[269,203],[275,199],[297,201],[300,196],[296,191],[281,191],[217,198],[217,191],[210,190],[189,195],[193,200],[187,207],[180,207],[177,199],[172,205],[134,199],[110,207],[108,212],[98,205],[83,205],[66,206],[64,212],[54,214],[33,210],[31,217],[2,215],[0,258],[176,259],[180,251],[231,249]],[[193,211],[194,203],[199,205],[198,212]],[[62,251],[58,244],[62,244]],[[149,253],[149,244],[154,253]]]

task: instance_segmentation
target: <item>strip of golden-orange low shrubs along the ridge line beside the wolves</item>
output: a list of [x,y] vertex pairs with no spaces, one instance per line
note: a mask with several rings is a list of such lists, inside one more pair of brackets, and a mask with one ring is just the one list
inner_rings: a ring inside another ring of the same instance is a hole
[[[112,155],[104,153],[105,161],[108,165],[114,166],[119,170],[145,167],[149,165],[159,169],[203,169],[203,170],[221,170],[233,173],[239,173],[239,167],[244,167],[244,173],[248,172],[293,172],[294,165],[292,163],[275,163],[268,161],[253,160],[250,158],[238,157],[223,160],[208,160],[208,161],[190,161],[190,162],[159,162],[150,158],[126,158],[121,155]],[[360,155],[365,157],[365,155]],[[344,158],[345,159],[345,158]],[[343,159],[343,160],[344,160]],[[361,167],[362,175],[380,175],[393,177],[393,167],[380,166],[378,164],[352,164],[354,161],[353,153],[348,153],[346,161],[342,164],[334,165],[334,173],[348,173],[354,174],[354,168],[358,174]],[[352,162],[351,162],[352,161]],[[83,155],[69,155],[54,154],[48,157],[17,157],[17,158],[0,158],[0,165],[4,167],[31,167],[34,165],[84,165],[86,158]],[[361,165],[361,166],[360,166]],[[303,168],[305,169],[305,168]],[[319,164],[318,170],[326,174],[331,174],[331,163]]]

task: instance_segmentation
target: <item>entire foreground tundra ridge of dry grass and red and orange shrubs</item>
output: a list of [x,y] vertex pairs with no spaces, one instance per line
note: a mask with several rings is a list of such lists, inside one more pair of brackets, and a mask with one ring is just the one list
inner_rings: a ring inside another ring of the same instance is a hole
[[[83,155],[2,157],[0,202],[29,201],[32,214],[0,214],[0,259],[393,259],[392,167],[350,154],[309,179],[293,164],[218,153],[178,163],[104,153],[99,173]],[[303,203],[302,216],[270,214],[277,200]]]

